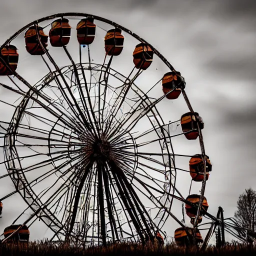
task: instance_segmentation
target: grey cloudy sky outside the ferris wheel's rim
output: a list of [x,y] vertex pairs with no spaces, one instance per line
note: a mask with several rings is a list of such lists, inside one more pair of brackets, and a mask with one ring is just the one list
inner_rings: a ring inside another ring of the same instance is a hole
[[[58,12],[85,12],[119,23],[157,48],[186,80],[204,120],[213,164],[205,196],[209,212],[233,216],[238,195],[256,189],[256,2],[253,0],[8,0],[0,38]],[[171,235],[171,234],[170,234]],[[229,237],[230,238],[230,237]]]

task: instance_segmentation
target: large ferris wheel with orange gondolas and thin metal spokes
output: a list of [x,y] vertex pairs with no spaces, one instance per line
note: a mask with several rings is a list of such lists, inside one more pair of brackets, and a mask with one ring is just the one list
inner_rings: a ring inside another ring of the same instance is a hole
[[170,223],[177,243],[203,241],[203,121],[165,57],[85,13],[33,21],[0,52],[2,241],[44,225],[51,240],[146,242]]

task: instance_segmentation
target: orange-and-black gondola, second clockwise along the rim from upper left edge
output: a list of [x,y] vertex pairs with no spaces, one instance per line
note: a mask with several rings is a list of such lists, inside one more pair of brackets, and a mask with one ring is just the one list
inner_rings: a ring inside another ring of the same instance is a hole
[[[37,32],[36,32],[37,30]],[[38,36],[37,36],[38,33]],[[43,48],[46,49],[47,47],[47,40],[48,40],[48,35],[46,35],[42,27],[40,26],[30,26],[28,30],[25,32],[25,44],[26,44],[26,50],[29,52],[31,55],[43,55],[44,50]],[[41,44],[43,48],[41,47],[38,37],[41,41]]]

